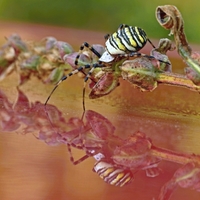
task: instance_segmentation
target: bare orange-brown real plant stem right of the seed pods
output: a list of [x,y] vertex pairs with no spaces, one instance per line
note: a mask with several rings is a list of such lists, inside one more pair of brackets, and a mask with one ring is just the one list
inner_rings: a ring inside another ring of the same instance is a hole
[[185,87],[192,91],[200,92],[200,86],[195,85],[190,79],[180,74],[174,74],[168,72],[160,73],[157,77],[157,82],[160,84]]

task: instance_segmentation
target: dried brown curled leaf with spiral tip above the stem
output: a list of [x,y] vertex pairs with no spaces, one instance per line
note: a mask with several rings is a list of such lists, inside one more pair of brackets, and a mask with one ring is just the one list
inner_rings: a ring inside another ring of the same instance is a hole
[[[170,30],[170,35],[174,35],[176,48],[179,55],[184,59],[186,64],[191,69],[186,69],[186,75],[195,84],[200,82],[200,63],[199,59],[195,59],[192,55],[192,49],[188,44],[185,32],[184,22],[180,11],[173,5],[158,6],[156,8],[156,19],[159,24]],[[190,71],[190,73],[188,73]],[[191,71],[193,75],[191,76]],[[194,75],[195,74],[195,75]]]

